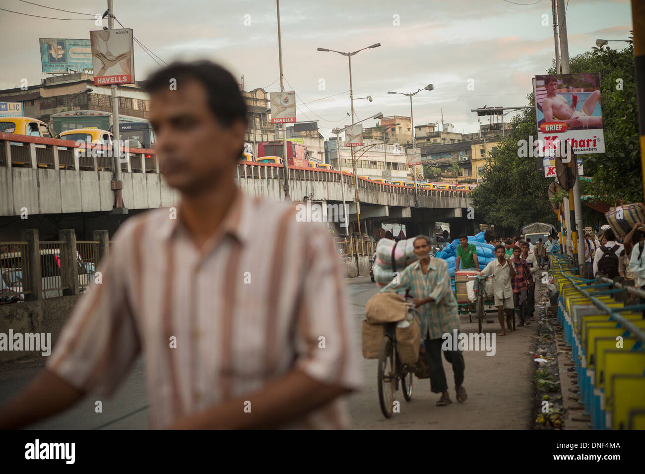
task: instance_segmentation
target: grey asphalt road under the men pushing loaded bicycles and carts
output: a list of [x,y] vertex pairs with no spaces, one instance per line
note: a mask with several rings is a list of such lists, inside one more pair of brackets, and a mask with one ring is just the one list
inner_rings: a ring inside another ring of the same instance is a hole
[[[361,350],[361,321],[364,305],[377,292],[369,277],[346,279],[353,308],[354,340]],[[537,298],[536,298],[537,299]],[[490,313],[495,321],[484,324],[484,332],[499,331],[497,313]],[[463,332],[476,332],[477,323],[461,316]],[[362,360],[364,389],[350,397],[353,428],[355,429],[526,429],[531,424],[531,357],[524,354],[533,350],[537,324],[518,328],[514,333],[496,339],[495,355],[484,351],[466,351],[464,387],[468,400],[457,403],[452,366],[444,360],[450,397],[453,403],[437,407],[439,395],[430,391],[430,380],[414,379],[411,402],[406,402],[398,391],[395,399],[401,402],[401,412],[385,419],[379,408],[377,392],[377,361]],[[0,404],[17,393],[40,371],[44,360],[23,360],[0,364]],[[135,430],[148,428],[148,399],[145,387],[145,368],[141,359],[135,362],[131,373],[112,399],[101,400],[103,411],[97,413],[97,399],[82,400],[71,410],[35,424],[34,429],[103,429]]]

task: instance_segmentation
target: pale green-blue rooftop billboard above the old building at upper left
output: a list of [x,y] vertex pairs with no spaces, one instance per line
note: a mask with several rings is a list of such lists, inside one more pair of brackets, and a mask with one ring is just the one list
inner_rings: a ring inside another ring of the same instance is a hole
[[92,69],[89,39],[39,38],[41,64],[45,73],[83,72]]

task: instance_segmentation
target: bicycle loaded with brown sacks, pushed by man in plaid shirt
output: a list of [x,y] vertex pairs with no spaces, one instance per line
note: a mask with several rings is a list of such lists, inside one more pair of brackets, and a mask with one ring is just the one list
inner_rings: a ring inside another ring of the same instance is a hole
[[[410,310],[415,311],[412,306]],[[415,311],[416,312],[416,311]],[[385,324],[384,336],[379,351],[378,384],[379,404],[386,418],[392,417],[394,395],[399,390],[399,380],[406,402],[412,400],[413,365],[402,364],[397,350],[396,327],[398,322]]]

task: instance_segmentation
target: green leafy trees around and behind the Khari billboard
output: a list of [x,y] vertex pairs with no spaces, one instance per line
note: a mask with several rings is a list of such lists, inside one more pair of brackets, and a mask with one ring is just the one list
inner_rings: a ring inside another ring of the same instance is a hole
[[[599,72],[601,80],[606,153],[579,155],[585,175],[591,177],[591,181],[581,182],[581,193],[611,204],[616,199],[642,202],[633,47],[630,44],[620,51],[593,48],[573,57],[570,70],[571,74]],[[553,73],[555,66],[547,72]],[[534,107],[533,94],[527,98]],[[475,212],[484,222],[510,232],[517,232],[530,222],[556,224],[557,215],[548,200],[548,186],[553,179],[537,172],[535,158],[518,156],[521,141],[530,147],[530,137],[536,138],[535,109],[524,109],[517,114],[511,120],[511,127],[500,141],[495,156],[487,158],[484,181],[471,193]],[[585,225],[596,223],[587,219],[589,213],[583,215]]]

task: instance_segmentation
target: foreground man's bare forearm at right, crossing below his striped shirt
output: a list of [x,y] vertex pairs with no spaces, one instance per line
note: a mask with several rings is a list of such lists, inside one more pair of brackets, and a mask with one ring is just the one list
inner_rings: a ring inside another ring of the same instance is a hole
[[[188,415],[170,426],[175,430],[248,430],[277,428],[330,403],[350,390],[324,384],[295,369],[260,391]],[[250,404],[245,404],[245,402]],[[248,412],[244,407],[248,406]]]

